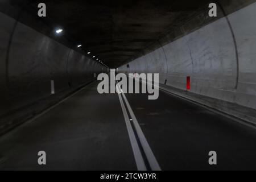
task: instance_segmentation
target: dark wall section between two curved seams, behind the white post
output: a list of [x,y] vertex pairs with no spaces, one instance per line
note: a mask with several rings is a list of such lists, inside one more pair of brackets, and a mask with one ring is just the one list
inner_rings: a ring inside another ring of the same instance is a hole
[[9,94],[14,105],[51,94],[50,80],[55,92],[68,88],[67,57],[69,49],[47,36],[18,23],[9,53]]

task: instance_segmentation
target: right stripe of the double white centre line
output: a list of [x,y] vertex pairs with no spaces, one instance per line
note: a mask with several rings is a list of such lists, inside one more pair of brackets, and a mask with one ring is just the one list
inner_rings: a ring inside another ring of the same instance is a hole
[[137,131],[137,134],[138,134],[138,137],[139,137],[139,140],[142,144],[142,148],[147,156],[147,160],[148,160],[148,163],[150,164],[150,167],[153,171],[160,171],[161,168],[155,158],[155,155],[153,154],[147,140],[146,140],[146,137],[144,136],[142,130],[141,130],[141,127],[139,126],[139,123],[137,121],[137,118],[135,117],[134,113],[133,113],[133,110],[131,109],[131,106],[129,104],[129,102],[127,101],[127,98],[125,97],[125,94],[123,93],[123,90],[120,88],[120,85],[118,85],[118,89],[121,90],[121,93],[122,93],[122,96],[123,96],[123,100],[125,100],[125,103],[127,105],[127,109],[129,110],[129,113],[131,115],[131,119],[133,119],[133,123],[134,123],[134,127],[135,127],[135,130]]

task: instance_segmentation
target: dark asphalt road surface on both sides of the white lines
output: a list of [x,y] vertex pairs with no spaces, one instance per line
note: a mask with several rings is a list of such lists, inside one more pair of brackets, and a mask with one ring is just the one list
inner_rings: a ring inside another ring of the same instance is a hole
[[[118,94],[99,94],[97,85],[3,135],[0,169],[138,169]],[[161,90],[158,100],[125,97],[160,169],[256,169],[255,129]],[[45,166],[38,165],[42,150]],[[218,165],[209,165],[209,151]]]

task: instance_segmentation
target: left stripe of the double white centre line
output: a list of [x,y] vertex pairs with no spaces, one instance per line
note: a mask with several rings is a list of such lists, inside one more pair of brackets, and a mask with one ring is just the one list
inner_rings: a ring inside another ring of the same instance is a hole
[[144,163],[142,154],[141,154],[141,150],[139,150],[139,145],[137,143],[137,140],[135,138],[135,134],[133,131],[133,128],[131,127],[131,123],[129,121],[129,116],[127,114],[127,111],[125,109],[125,104],[123,104],[123,100],[121,97],[121,94],[118,93],[118,97],[119,97],[119,101],[122,107],[122,111],[123,111],[123,117],[125,117],[125,123],[126,123],[126,127],[127,127],[127,131],[128,131],[128,135],[130,138],[130,142],[131,142],[131,148],[133,148],[133,154],[134,154],[134,158],[135,158],[135,163],[137,166],[137,169],[139,171],[146,171],[146,165]]

